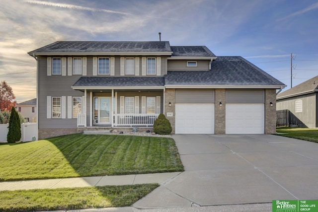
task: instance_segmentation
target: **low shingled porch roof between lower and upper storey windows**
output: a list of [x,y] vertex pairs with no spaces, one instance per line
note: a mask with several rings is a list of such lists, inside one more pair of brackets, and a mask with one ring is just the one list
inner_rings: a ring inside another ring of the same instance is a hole
[[164,87],[164,77],[95,77],[82,76],[72,86],[73,89],[158,89]]

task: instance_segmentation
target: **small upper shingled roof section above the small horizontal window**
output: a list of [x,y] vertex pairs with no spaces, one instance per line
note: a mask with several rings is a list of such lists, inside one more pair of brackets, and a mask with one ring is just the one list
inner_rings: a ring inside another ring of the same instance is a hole
[[206,46],[171,46],[172,57],[216,57]]

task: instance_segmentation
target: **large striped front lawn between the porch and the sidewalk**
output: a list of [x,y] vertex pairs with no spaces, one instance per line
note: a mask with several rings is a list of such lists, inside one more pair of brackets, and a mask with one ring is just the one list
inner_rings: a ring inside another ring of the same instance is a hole
[[183,171],[171,138],[68,135],[0,144],[0,181]]

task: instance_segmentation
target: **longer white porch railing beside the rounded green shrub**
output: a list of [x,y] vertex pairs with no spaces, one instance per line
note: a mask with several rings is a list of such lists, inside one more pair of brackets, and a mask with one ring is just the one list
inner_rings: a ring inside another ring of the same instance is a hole
[[159,114],[114,114],[114,126],[154,126]]

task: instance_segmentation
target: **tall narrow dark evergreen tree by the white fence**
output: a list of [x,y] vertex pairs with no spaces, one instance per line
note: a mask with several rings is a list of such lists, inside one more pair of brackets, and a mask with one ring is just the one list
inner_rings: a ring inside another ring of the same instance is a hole
[[20,118],[14,107],[11,108],[11,114],[9,119],[9,131],[6,136],[8,143],[14,143],[21,139],[21,124]]

